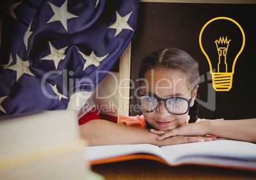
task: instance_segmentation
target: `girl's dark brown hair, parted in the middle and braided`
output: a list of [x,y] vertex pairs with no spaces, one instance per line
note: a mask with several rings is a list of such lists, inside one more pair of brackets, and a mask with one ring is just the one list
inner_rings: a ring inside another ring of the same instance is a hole
[[[155,68],[180,70],[188,80],[188,86],[192,90],[199,84],[199,65],[188,53],[176,48],[159,49],[146,56],[139,65],[139,79],[145,78],[145,73]],[[139,80],[139,86],[143,81]],[[190,108],[189,122],[196,122],[199,112],[199,103],[195,101],[194,106]]]

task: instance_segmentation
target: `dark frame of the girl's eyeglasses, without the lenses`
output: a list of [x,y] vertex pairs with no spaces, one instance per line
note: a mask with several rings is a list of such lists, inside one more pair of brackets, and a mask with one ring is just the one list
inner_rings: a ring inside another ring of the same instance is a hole
[[[141,112],[146,112],[146,113],[150,113],[150,112],[155,111],[155,110],[157,109],[157,107],[159,106],[159,101],[164,101],[164,105],[166,106],[166,101],[167,101],[167,100],[170,100],[170,99],[172,99],[172,98],[178,98],[178,99],[187,101],[187,103],[188,103],[188,108],[187,108],[187,111],[185,112],[185,113],[187,113],[188,110],[189,110],[189,108],[190,108],[190,103],[192,102],[192,97],[191,97],[190,99],[187,99],[187,98],[181,98],[181,97],[171,96],[171,97],[169,97],[169,98],[165,98],[165,99],[164,99],[164,98],[158,98],[157,96],[154,96],[154,95],[139,94],[139,95],[135,95],[135,96],[134,96],[135,102],[136,102],[136,105],[137,105],[137,106],[139,106],[139,105],[138,105],[138,100],[139,100],[139,97],[141,97],[141,96],[151,96],[151,97],[153,97],[153,98],[155,98],[155,99],[157,100],[157,105],[155,106],[155,108],[154,108],[153,110],[151,110],[151,111],[149,111],[149,112],[143,111],[143,110],[141,109],[141,107],[139,107],[139,110],[141,110]],[[185,114],[185,113],[173,113],[173,112],[171,112],[171,111],[167,108],[167,106],[166,106],[166,110],[167,110],[169,113],[173,114],[173,115],[184,115],[184,114]]]

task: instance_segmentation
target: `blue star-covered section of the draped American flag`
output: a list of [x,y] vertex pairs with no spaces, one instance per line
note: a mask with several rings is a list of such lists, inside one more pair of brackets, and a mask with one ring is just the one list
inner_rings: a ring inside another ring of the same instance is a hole
[[139,8],[138,0],[2,4],[0,116],[66,109],[73,93],[94,91],[131,41]]

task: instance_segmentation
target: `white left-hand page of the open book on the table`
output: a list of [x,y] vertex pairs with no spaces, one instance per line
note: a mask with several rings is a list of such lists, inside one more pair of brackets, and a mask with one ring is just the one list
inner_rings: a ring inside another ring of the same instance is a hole
[[85,158],[89,161],[103,160],[105,158],[120,157],[136,153],[148,153],[163,159],[166,158],[158,146],[150,144],[88,146],[84,148],[84,152]]

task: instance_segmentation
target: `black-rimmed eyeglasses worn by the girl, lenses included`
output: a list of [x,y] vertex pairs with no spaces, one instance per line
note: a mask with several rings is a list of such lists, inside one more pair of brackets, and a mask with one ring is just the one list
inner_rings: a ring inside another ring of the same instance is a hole
[[153,112],[157,109],[159,101],[164,101],[165,108],[174,115],[183,115],[188,112],[191,100],[180,97],[157,98],[153,95],[141,94],[135,96],[136,105],[142,112]]

